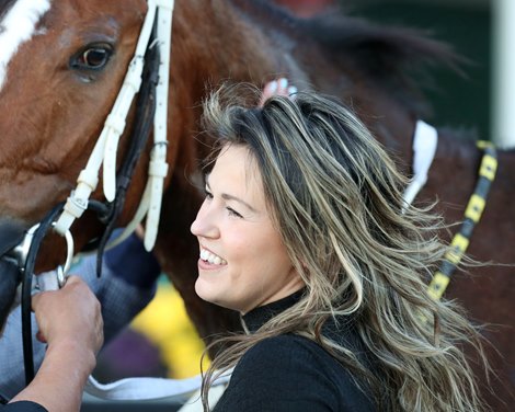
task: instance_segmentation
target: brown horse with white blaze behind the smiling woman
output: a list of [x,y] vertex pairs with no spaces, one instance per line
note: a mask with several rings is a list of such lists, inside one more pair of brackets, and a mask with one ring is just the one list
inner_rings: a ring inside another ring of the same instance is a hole
[[[33,21],[34,30],[10,26],[12,11]],[[0,1],[0,42],[7,49],[0,55],[0,232],[26,230],[69,196],[121,88],[146,13],[146,0]],[[297,19],[264,0],[178,0],[173,19],[169,173],[154,253],[201,337],[211,342],[241,325],[233,312],[202,301],[194,291],[198,247],[190,224],[203,201],[201,163],[211,144],[198,124],[209,91],[228,79],[263,87],[284,76],[300,90],[336,95],[410,174],[412,137],[425,108],[416,69],[435,62],[456,69],[459,59],[449,47],[410,30],[344,15]],[[451,225],[462,220],[481,153],[473,141],[457,139],[450,130],[438,135],[428,181],[415,202],[438,199],[436,210]],[[119,158],[128,140],[124,133]],[[136,165],[116,222],[121,227],[142,195],[151,149],[147,144]],[[515,263],[514,175],[514,154],[501,151],[497,178],[469,248],[479,261]],[[100,188],[93,198],[103,199]],[[71,228],[77,250],[102,231],[102,222],[87,211]],[[62,248],[60,238],[48,237],[37,271],[58,265]],[[5,249],[0,244],[0,252]],[[507,408],[513,390],[512,272],[503,265],[473,267],[455,275],[447,289],[447,298],[458,299],[472,319],[492,325],[484,333],[502,355],[492,354],[495,394],[483,375],[478,379],[496,411]]]

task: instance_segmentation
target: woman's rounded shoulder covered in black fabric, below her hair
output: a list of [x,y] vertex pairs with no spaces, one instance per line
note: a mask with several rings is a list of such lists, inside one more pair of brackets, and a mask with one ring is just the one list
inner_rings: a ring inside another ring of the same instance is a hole
[[247,351],[229,388],[250,397],[261,393],[276,402],[291,396],[307,404],[330,407],[313,410],[354,410],[351,405],[356,402],[363,405],[356,411],[374,410],[343,365],[312,340],[295,334],[265,339]]

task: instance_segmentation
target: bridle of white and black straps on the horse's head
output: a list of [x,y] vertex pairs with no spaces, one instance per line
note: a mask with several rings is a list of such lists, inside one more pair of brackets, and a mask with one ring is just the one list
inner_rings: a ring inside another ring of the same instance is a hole
[[[123,234],[117,238],[117,242],[127,238],[146,216],[145,248],[151,250],[156,242],[163,181],[168,174],[168,92],[174,1],[148,0],[147,4],[148,11],[135,55],[104,128],[85,168],[79,174],[77,187],[70,193],[66,203],[56,205],[41,222],[27,230],[22,242],[10,252],[10,259],[16,262],[22,277],[22,334],[26,385],[34,378],[31,296],[34,293],[33,273],[41,243],[50,229],[65,237],[67,241],[67,263],[64,267],[59,266],[54,275],[57,276],[56,286],[61,287],[66,281],[70,256],[73,255],[70,228],[87,209],[95,211],[105,225],[104,233],[96,245],[100,274],[102,253],[123,209],[125,194],[152,126],[153,146],[147,185],[136,215]],[[138,94],[136,121],[131,130],[130,147],[124,163],[118,169],[116,167],[118,142],[136,94]],[[106,203],[90,199],[96,190],[101,168],[103,168],[103,193]]]

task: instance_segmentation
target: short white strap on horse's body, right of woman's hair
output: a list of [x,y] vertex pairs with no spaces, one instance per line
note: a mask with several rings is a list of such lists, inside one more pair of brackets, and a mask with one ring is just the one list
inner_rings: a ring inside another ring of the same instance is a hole
[[438,131],[425,122],[416,122],[413,135],[413,178],[404,190],[404,209],[410,206],[427,182],[431,163],[438,145]]

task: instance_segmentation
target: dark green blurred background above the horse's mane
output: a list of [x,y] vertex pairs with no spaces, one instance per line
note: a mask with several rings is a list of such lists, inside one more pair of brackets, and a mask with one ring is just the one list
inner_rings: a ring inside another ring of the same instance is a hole
[[422,30],[448,43],[470,64],[465,76],[449,69],[431,70],[434,82],[425,89],[435,126],[476,129],[490,139],[490,61],[492,0],[275,0],[301,15],[328,7],[387,25]]

